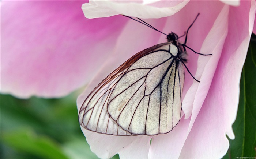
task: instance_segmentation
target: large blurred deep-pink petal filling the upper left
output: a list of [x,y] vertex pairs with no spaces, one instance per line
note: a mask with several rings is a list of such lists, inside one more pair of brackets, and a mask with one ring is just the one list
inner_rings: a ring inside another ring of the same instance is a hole
[[1,92],[20,98],[64,96],[86,84],[127,21],[119,16],[86,19],[81,1],[0,5]]

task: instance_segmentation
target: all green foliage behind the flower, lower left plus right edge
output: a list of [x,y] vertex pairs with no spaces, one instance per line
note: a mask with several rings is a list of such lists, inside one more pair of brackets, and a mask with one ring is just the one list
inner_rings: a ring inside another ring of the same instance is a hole
[[[240,82],[235,140],[224,159],[254,157],[256,146],[256,36],[252,36]],[[97,159],[80,130],[76,98],[17,99],[0,95],[1,159]],[[118,159],[119,156],[113,156]]]

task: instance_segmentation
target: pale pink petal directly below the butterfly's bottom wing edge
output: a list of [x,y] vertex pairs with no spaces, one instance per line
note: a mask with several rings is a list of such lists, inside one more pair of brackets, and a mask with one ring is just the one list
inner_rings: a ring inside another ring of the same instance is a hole
[[[99,158],[147,158],[150,136],[114,136],[91,132],[82,128],[87,142]],[[140,147],[138,149],[138,146]]]

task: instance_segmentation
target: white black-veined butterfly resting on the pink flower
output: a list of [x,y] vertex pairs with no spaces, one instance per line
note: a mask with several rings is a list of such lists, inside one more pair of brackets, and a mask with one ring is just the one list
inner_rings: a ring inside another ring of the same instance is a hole
[[[193,23],[198,16],[199,13]],[[158,31],[139,18],[133,20]],[[177,34],[163,33],[166,43],[140,51],[110,73],[84,100],[79,111],[80,126],[120,136],[166,134],[173,130],[182,110],[183,65],[189,72],[186,48],[195,52],[186,45],[188,30],[183,44]]]

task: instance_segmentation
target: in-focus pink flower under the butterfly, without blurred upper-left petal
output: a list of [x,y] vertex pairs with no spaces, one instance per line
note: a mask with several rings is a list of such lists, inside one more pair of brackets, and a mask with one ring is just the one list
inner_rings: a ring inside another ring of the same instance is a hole
[[[148,19],[155,28],[182,35],[200,13],[189,31],[187,45],[212,57],[188,52],[185,71],[183,117],[168,134],[155,136],[111,136],[82,128],[91,150],[100,158],[221,158],[228,148],[226,137],[234,139],[239,82],[249,39],[255,23],[255,0],[228,1],[89,1],[83,4],[89,18],[117,14]],[[233,4],[232,4],[233,3]],[[233,5],[233,6],[232,6]],[[174,14],[175,13],[175,14]],[[172,16],[170,16],[172,15]],[[167,17],[169,16],[169,17]],[[125,17],[120,17],[120,20]],[[165,37],[127,19],[116,47],[101,71],[77,100],[78,110],[91,90],[111,71],[135,53],[165,42]],[[152,142],[150,144],[150,140]]]

